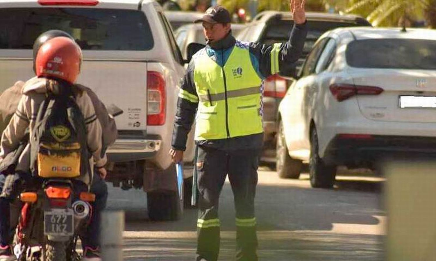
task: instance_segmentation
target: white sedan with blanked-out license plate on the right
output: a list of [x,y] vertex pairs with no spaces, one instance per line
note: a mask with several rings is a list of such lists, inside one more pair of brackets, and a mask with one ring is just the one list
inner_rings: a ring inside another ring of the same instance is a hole
[[[277,172],[332,187],[337,166],[436,153],[436,31],[325,33],[279,105]],[[433,154],[434,155],[434,154]]]

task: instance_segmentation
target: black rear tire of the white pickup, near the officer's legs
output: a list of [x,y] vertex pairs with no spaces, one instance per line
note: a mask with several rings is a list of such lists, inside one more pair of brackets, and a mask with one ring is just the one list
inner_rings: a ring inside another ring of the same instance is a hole
[[183,214],[183,200],[179,199],[177,191],[147,192],[147,211],[153,221],[178,220]]

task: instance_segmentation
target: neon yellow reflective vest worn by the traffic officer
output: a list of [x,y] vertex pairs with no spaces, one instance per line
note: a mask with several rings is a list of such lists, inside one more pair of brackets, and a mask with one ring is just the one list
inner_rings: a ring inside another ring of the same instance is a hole
[[194,66],[199,98],[195,140],[262,133],[262,79],[248,49],[235,45],[224,68],[203,50],[194,57]]

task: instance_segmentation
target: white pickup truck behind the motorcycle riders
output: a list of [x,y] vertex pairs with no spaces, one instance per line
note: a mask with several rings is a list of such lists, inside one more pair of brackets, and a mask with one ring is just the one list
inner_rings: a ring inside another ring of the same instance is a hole
[[[118,139],[107,152],[106,181],[124,190],[143,188],[151,220],[179,218],[183,207],[168,151],[186,61],[160,5],[150,0],[0,1],[0,92],[34,77],[33,42],[51,29],[71,34],[82,48],[77,82],[124,112],[116,117]],[[184,161],[192,162],[192,136],[187,145]]]

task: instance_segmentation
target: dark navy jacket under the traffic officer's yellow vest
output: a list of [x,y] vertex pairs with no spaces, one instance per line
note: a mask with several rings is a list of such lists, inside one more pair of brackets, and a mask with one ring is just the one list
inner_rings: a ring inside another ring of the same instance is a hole
[[[279,50],[280,72],[290,70],[303,52],[306,40],[306,24],[294,25],[289,40],[282,44]],[[221,67],[227,61],[233,47],[237,44],[232,33],[221,41],[208,44],[206,52],[209,57]],[[245,44],[245,43],[243,43]],[[260,78],[265,79],[271,75],[271,51],[272,45],[260,43],[247,43],[249,45],[250,58],[253,68]],[[192,95],[198,96],[194,83],[194,61],[188,65],[187,72],[182,79],[181,88]],[[190,102],[184,98],[178,98],[177,113],[174,120],[172,147],[177,150],[186,149],[187,135],[194,122],[198,103]],[[263,134],[232,137],[228,139],[214,139],[197,141],[200,146],[214,147],[218,149],[260,149],[262,147]]]

